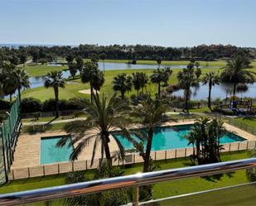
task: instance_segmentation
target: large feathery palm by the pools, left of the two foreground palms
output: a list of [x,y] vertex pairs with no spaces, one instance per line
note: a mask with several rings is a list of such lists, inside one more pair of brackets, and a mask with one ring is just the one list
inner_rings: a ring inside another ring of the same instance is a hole
[[[70,155],[70,160],[75,160],[80,152],[88,145],[90,140],[94,140],[94,149],[92,153],[91,165],[94,163],[94,156],[98,146],[100,146],[101,158],[100,164],[104,156],[107,159],[108,165],[112,165],[112,156],[109,149],[109,135],[110,132],[117,128],[125,127],[129,119],[127,118],[127,111],[130,110],[129,104],[126,100],[117,98],[116,93],[110,99],[99,94],[94,95],[94,103],[85,102],[85,113],[87,114],[86,120],[70,122],[65,126],[65,131],[72,135],[71,145],[75,145],[74,151]],[[94,128],[92,130],[92,128]],[[90,131],[90,132],[89,132]],[[114,137],[114,136],[113,136]],[[118,138],[114,137],[118,144],[120,155],[124,157],[123,146]],[[58,146],[64,146],[68,141],[67,137],[63,137]]]

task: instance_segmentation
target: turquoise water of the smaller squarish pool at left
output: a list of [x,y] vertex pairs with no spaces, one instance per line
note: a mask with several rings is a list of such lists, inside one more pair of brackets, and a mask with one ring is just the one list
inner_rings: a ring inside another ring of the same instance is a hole
[[61,161],[69,161],[70,154],[74,150],[74,147],[69,147],[70,140],[65,143],[65,146],[56,146],[61,137],[41,137],[40,148],[40,164],[51,164]]

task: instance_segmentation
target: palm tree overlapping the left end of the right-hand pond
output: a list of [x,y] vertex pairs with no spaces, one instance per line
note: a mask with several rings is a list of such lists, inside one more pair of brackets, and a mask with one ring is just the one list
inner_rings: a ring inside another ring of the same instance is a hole
[[188,64],[187,68],[179,71],[177,74],[178,88],[184,89],[185,92],[185,109],[189,113],[188,101],[191,95],[191,87],[198,87],[199,81],[196,77],[194,65]]

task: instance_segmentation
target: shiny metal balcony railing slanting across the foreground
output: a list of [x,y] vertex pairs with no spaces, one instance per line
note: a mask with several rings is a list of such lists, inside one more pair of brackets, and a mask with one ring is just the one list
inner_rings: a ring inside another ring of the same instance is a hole
[[[94,194],[110,189],[134,188],[134,205],[138,202],[138,187],[147,184],[155,184],[167,180],[178,180],[189,177],[200,177],[215,175],[234,170],[243,170],[256,167],[256,158],[233,160],[221,163],[198,165],[173,170],[161,170],[156,172],[139,173],[115,178],[87,181],[77,184],[66,184],[62,186],[33,189],[12,194],[1,194],[0,205],[30,204],[34,202],[62,199],[80,196],[82,194]],[[142,204],[146,205],[146,204]]]

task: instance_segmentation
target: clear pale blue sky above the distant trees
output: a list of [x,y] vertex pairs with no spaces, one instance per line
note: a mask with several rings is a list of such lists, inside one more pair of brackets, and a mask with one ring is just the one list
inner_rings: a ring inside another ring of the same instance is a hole
[[0,0],[0,43],[256,47],[256,0]]

